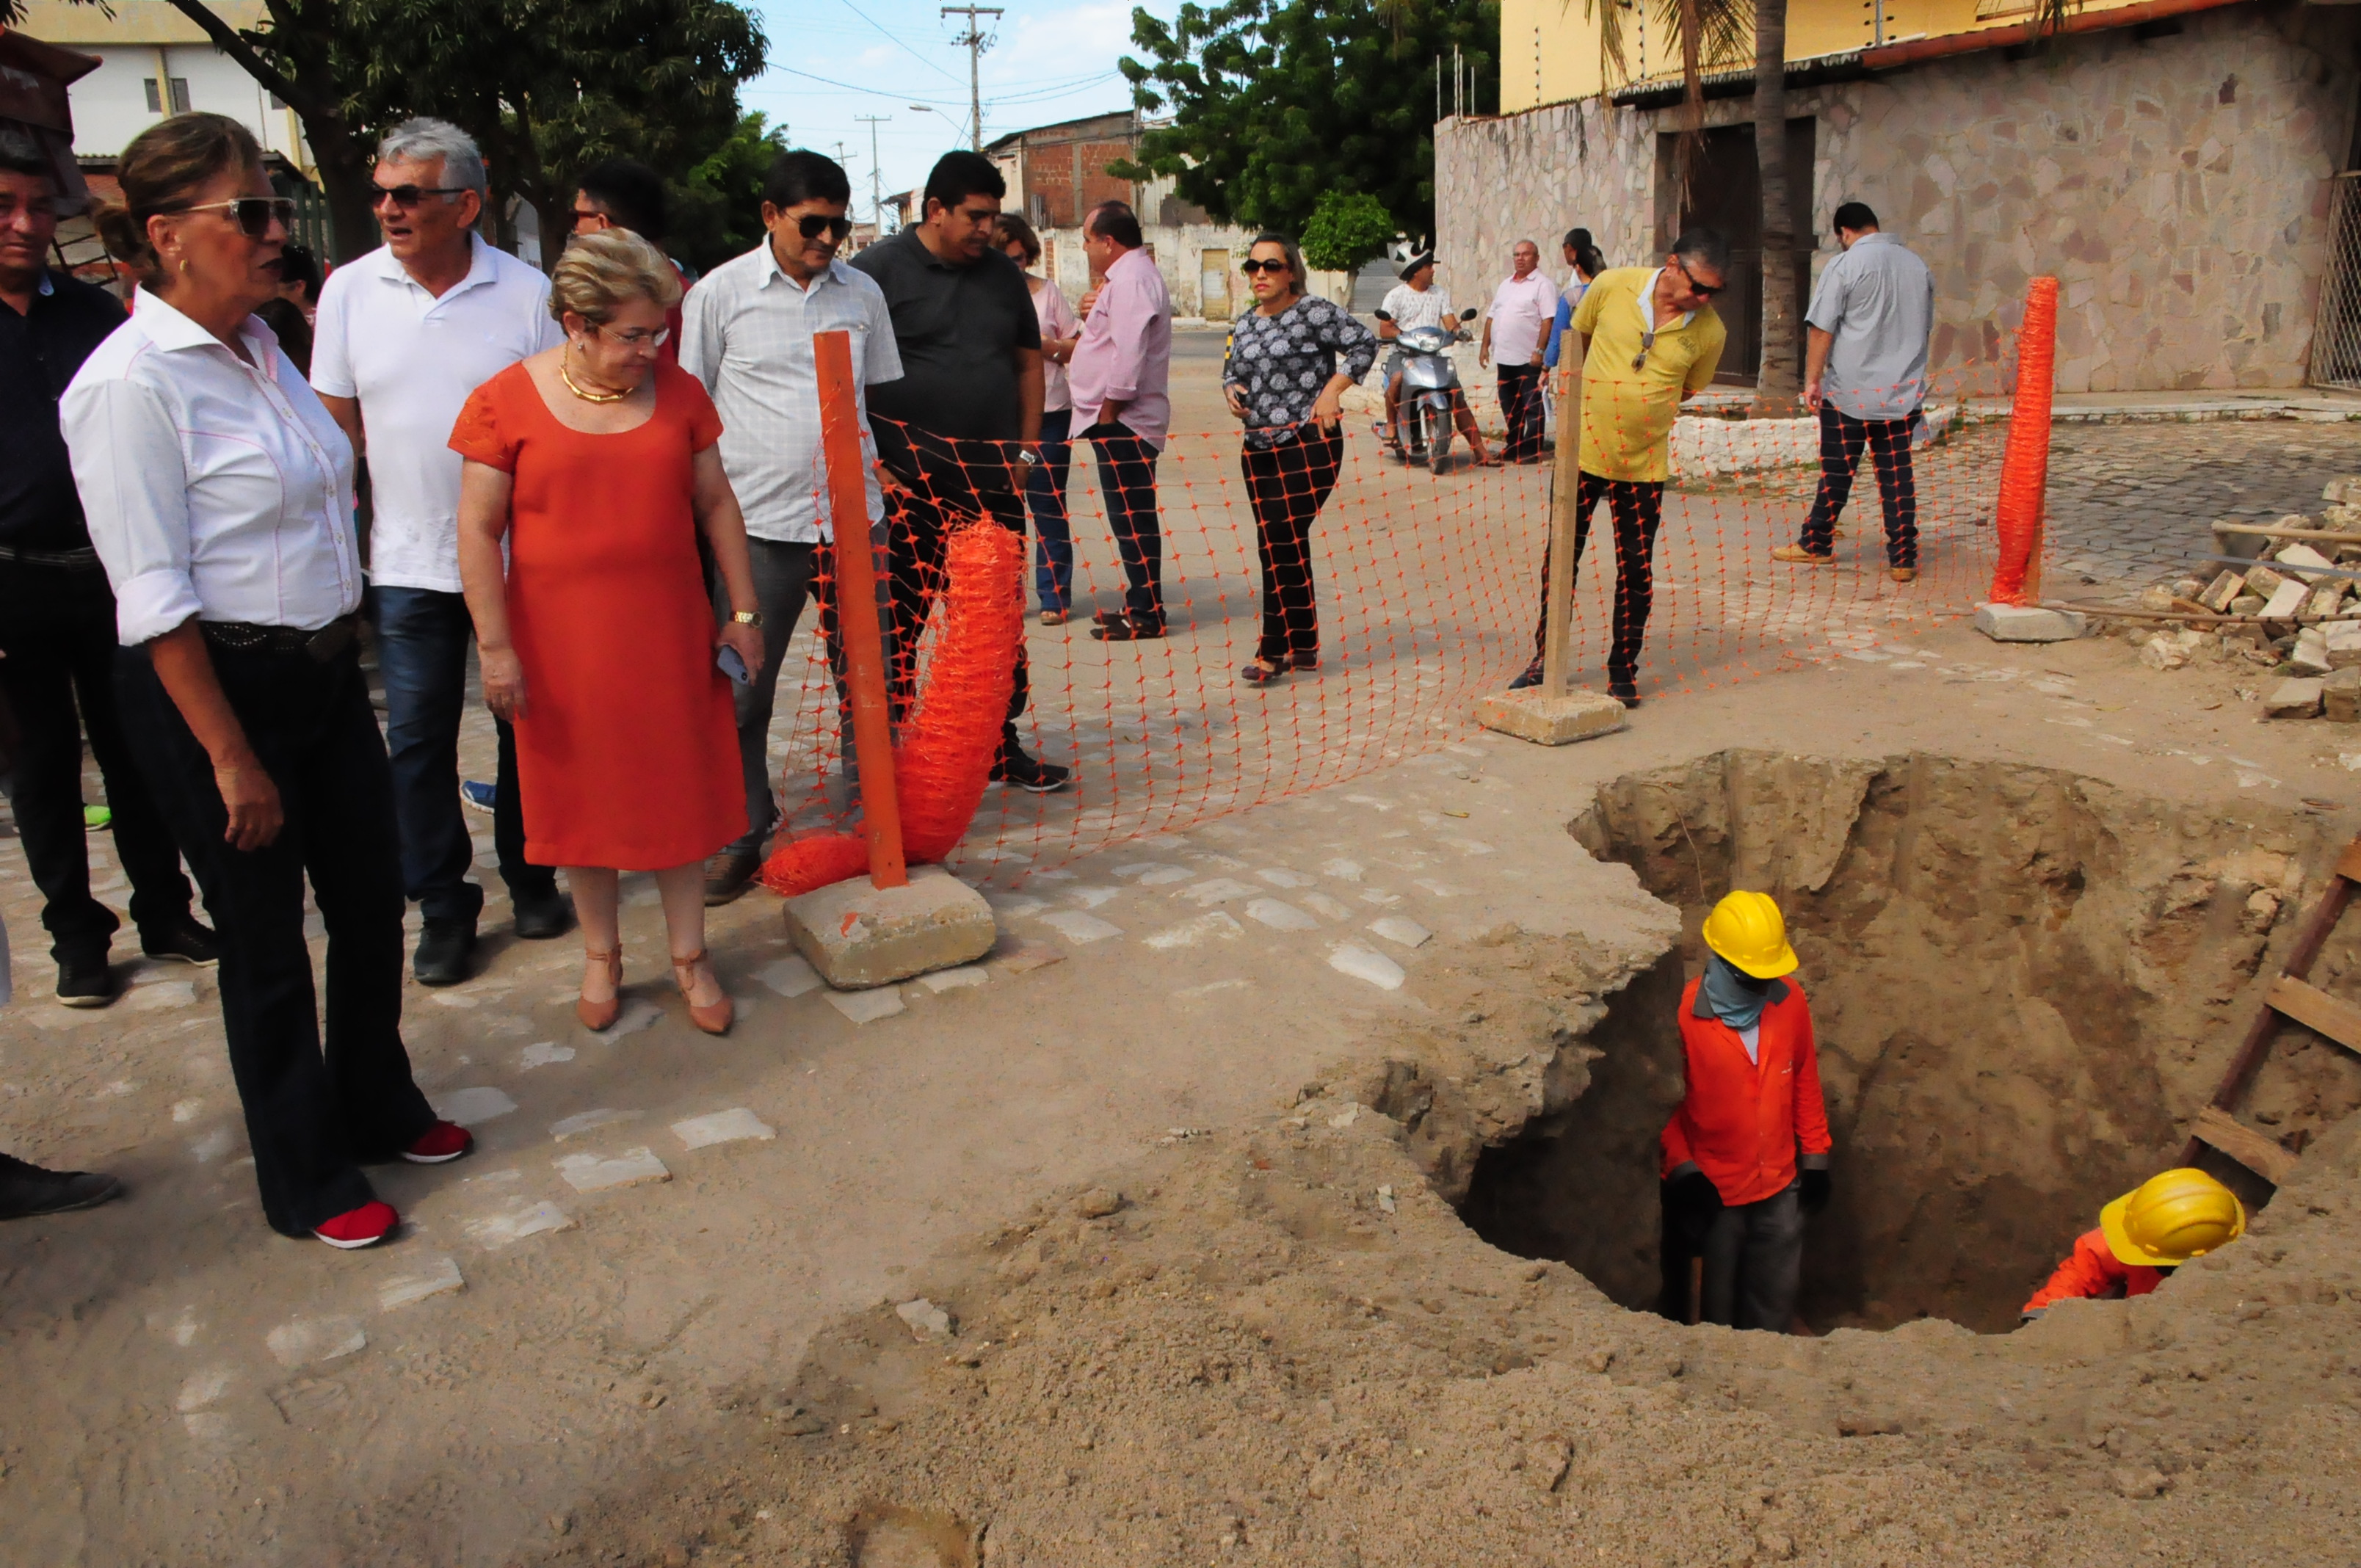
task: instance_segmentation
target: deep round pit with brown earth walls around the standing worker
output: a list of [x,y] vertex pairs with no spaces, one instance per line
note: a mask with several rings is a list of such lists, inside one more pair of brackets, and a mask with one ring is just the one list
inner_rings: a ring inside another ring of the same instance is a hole
[[[2302,867],[2326,862],[2311,819],[1941,756],[1726,751],[1608,784],[1570,831],[1681,907],[1681,947],[1591,1032],[1589,1091],[1478,1157],[1464,1216],[1655,1306],[1679,992],[1705,912],[1761,888],[1804,959],[1837,1152],[1804,1254],[1813,1329],[2014,1327],[2099,1204],[2177,1157],[2274,930],[2319,890]],[[2361,968],[2344,947],[2328,973]],[[2283,1041],[2255,1105],[2300,1150],[2356,1100],[2344,1053]]]

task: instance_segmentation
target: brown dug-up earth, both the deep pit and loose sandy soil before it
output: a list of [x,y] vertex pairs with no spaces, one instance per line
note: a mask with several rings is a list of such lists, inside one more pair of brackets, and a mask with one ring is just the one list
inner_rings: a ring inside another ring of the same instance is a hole
[[[2257,1086],[2302,1159],[2245,1240],[1976,1332],[2174,1150],[2319,890],[2316,819],[1721,753],[1570,831],[1683,921],[1487,933],[1296,1103],[951,1249],[529,1561],[2349,1561],[2361,1070],[2333,1048],[2283,1039]],[[1820,1023],[1846,1197],[1818,1337],[1631,1311],[1667,1020],[1728,886],[1790,907]],[[2314,975],[2352,994],[2354,942]]]

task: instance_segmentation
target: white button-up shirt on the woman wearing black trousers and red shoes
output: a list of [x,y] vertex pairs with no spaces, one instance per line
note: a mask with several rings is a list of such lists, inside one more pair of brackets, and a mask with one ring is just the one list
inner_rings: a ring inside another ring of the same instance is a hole
[[361,607],[352,442],[248,316],[253,364],[156,295],[59,401],[125,647],[184,623],[316,631]]

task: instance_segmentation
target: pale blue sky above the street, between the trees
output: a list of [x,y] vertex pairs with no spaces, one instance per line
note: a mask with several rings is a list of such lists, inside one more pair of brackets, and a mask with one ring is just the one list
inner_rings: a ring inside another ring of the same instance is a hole
[[[1001,5],[1006,14],[987,19],[994,45],[982,61],[985,142],[1131,106],[1131,90],[1114,71],[1131,52],[1131,0]],[[772,125],[784,120],[798,146],[836,156],[843,142],[855,215],[869,215],[869,125],[855,116],[892,116],[876,128],[888,194],[923,184],[937,156],[968,144],[968,52],[951,43],[966,19],[942,17],[940,0],[796,0],[751,9],[770,35],[770,71],[746,83],[739,102]]]

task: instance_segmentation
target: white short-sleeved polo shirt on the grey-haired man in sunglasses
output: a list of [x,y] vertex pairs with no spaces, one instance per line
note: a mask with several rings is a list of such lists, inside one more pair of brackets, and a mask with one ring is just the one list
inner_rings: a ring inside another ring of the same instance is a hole
[[319,290],[312,385],[354,397],[368,449],[368,576],[458,593],[458,470],[451,425],[508,366],[564,342],[538,267],[470,234],[467,276],[430,295],[382,246]]

